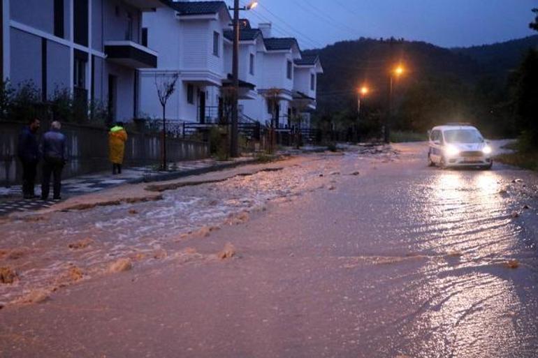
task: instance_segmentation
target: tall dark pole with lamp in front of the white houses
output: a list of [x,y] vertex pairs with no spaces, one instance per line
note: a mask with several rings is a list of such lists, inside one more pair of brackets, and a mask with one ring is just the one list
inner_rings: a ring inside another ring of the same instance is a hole
[[237,158],[239,156],[238,148],[238,103],[239,103],[239,10],[251,10],[258,6],[258,1],[251,1],[247,6],[240,7],[239,0],[233,1],[233,57],[232,57],[232,125],[230,140],[230,156]]

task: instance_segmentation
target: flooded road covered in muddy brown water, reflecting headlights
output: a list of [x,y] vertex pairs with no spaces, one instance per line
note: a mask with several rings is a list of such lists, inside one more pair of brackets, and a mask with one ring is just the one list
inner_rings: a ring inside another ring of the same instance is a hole
[[0,357],[537,357],[535,174],[397,149],[3,223]]

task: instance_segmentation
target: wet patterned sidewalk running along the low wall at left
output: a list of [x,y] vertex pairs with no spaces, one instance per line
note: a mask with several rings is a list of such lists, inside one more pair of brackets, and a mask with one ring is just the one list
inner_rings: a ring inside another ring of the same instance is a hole
[[[198,175],[205,172],[224,170],[238,165],[254,163],[255,158],[242,157],[233,161],[215,161],[215,159],[204,159],[201,161],[184,161],[172,163],[170,167],[175,168],[169,172],[159,172],[153,167],[129,167],[122,171],[122,174],[112,175],[111,172],[99,172],[96,174],[86,174],[80,177],[73,177],[61,181],[61,197],[66,199],[77,195],[95,193],[113,186],[122,184],[136,184],[142,182],[172,180],[189,175]],[[36,185],[36,195],[41,195],[41,185]],[[40,199],[22,199],[22,188],[20,185],[10,188],[0,187],[0,216],[10,214],[15,211],[36,211],[51,207],[57,201]]]

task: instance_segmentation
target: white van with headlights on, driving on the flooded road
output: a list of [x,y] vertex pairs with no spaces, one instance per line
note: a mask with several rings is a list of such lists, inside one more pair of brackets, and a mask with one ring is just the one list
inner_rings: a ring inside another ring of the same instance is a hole
[[433,128],[429,135],[430,166],[490,169],[493,165],[493,150],[474,126],[446,124]]

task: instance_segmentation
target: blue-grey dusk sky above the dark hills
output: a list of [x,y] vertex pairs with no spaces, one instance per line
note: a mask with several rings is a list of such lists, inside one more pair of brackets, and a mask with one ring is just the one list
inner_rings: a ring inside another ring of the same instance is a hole
[[[242,4],[247,0],[240,0]],[[532,35],[538,0],[259,0],[243,12],[273,36],[298,38],[303,49],[361,36],[423,40],[444,47],[483,45]]]

